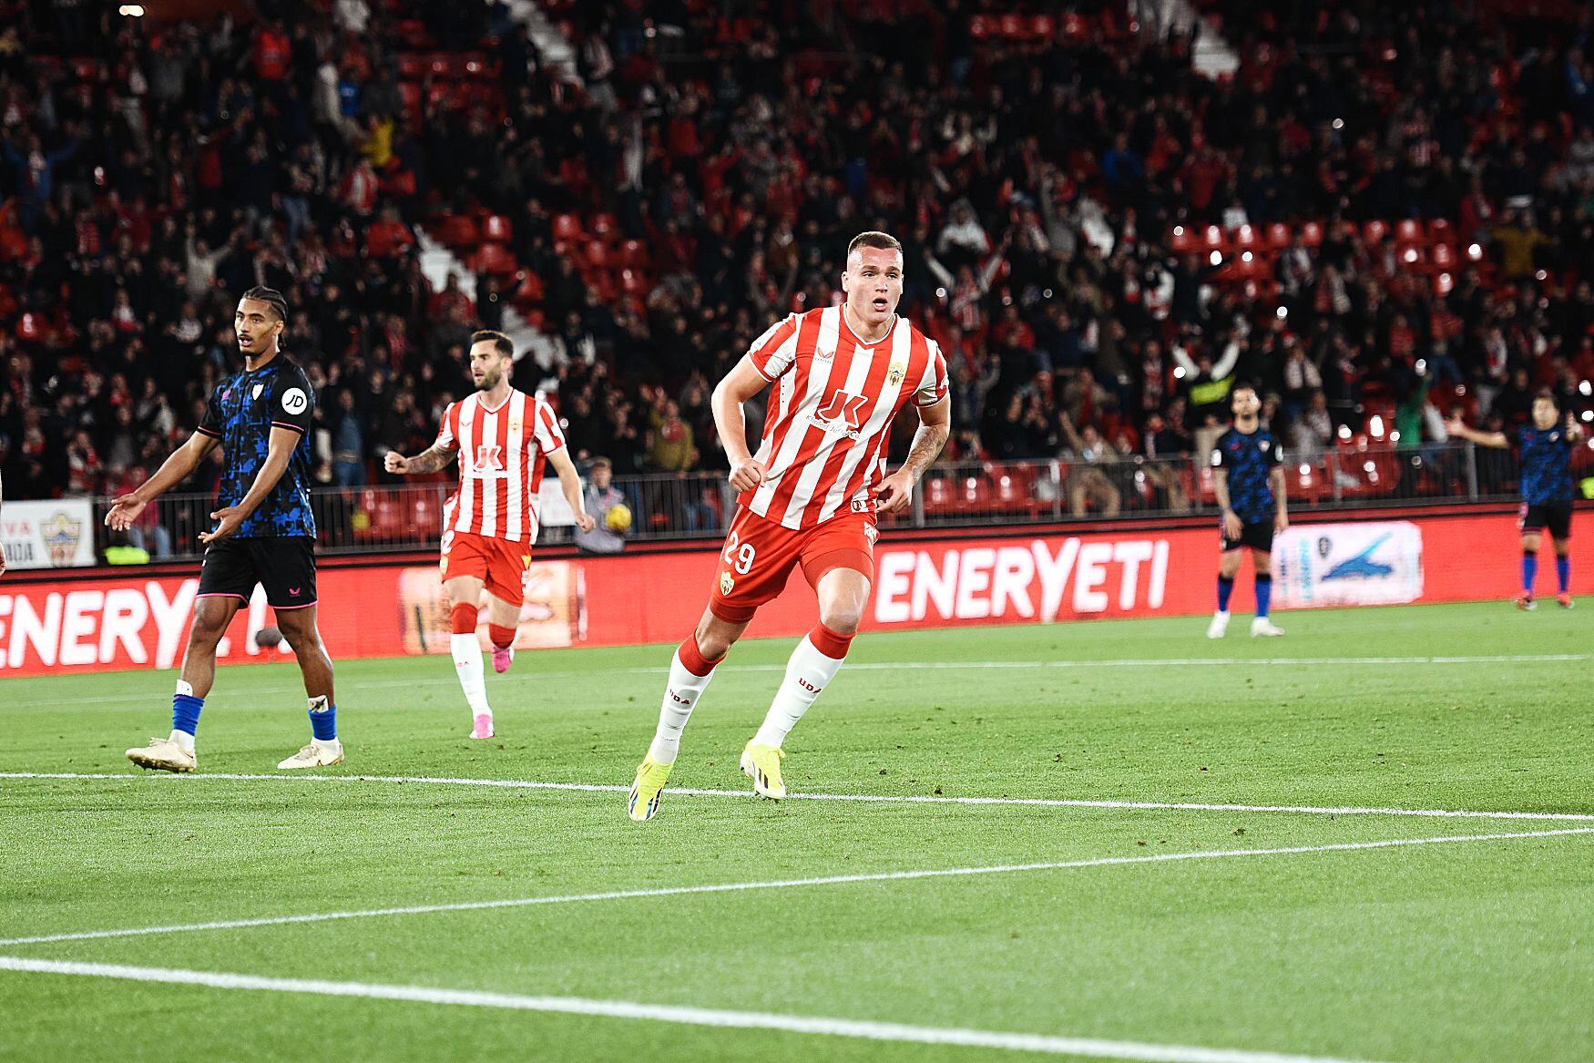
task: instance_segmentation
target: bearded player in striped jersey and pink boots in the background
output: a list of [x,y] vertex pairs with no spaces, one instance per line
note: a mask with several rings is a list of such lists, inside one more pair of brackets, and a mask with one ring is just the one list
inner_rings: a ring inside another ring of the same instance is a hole
[[531,545],[537,540],[537,492],[544,462],[559,475],[575,526],[593,529],[582,504],[582,481],[564,446],[553,408],[510,387],[515,343],[501,331],[470,336],[470,378],[477,394],[450,403],[437,441],[414,457],[389,453],[391,473],[424,475],[459,454],[459,491],[443,507],[443,588],[451,609],[450,649],[473,717],[472,738],[493,738],[493,708],[477,623],[488,593],[493,671],[508,671],[524,601]]

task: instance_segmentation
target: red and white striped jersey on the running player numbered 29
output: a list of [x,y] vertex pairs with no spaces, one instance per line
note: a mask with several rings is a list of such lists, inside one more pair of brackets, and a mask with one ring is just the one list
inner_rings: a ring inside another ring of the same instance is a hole
[[891,421],[909,400],[931,406],[947,395],[940,347],[901,317],[866,346],[840,306],[792,314],[748,357],[775,384],[756,454],[770,475],[740,502],[792,529],[842,512],[872,513]]

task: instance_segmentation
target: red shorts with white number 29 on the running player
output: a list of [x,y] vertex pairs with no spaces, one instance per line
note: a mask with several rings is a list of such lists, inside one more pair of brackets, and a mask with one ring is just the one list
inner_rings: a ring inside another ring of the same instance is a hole
[[794,566],[810,586],[830,569],[854,569],[875,579],[874,513],[840,513],[823,524],[792,531],[752,510],[736,508],[708,607],[727,623],[746,623],[786,586]]

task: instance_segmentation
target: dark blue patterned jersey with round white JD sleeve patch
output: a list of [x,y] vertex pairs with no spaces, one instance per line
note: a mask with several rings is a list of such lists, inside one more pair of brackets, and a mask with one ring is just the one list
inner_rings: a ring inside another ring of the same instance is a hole
[[298,362],[281,351],[258,370],[244,370],[217,384],[199,430],[222,440],[222,505],[238,505],[266,464],[271,429],[298,432],[298,443],[277,486],[234,532],[239,539],[312,535],[309,508],[309,419],[316,392]]

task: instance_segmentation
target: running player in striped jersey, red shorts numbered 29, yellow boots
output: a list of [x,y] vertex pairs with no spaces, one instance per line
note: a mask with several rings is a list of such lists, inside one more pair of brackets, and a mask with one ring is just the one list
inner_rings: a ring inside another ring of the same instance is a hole
[[[741,494],[708,609],[669,663],[658,727],[628,798],[631,819],[658,811],[681,732],[714,666],[800,566],[818,593],[819,623],[797,644],[764,725],[741,752],[757,794],[786,795],[781,744],[835,679],[869,602],[875,515],[907,512],[913,486],[947,441],[945,359],[896,316],[902,245],[886,233],[856,236],[842,290],[842,306],[770,327],[714,389],[730,486]],[[741,406],[765,387],[768,416],[754,454]],[[886,475],[891,422],[909,403],[920,426],[907,459]]]

